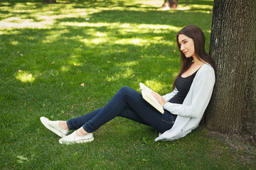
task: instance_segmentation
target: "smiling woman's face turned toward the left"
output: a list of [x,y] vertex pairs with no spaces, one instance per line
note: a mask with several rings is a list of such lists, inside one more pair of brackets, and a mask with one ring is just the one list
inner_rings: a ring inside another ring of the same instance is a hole
[[186,35],[178,35],[178,44],[181,47],[181,51],[186,57],[196,57],[195,55],[195,45],[193,39]]

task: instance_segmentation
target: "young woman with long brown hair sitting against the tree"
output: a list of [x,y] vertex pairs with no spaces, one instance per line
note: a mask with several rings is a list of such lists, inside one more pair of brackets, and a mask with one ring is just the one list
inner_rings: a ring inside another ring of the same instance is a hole
[[[92,132],[117,116],[149,125],[159,132],[158,140],[176,140],[198,127],[208,106],[215,84],[215,64],[205,51],[205,36],[197,26],[181,29],[176,36],[181,52],[181,70],[170,94],[152,94],[164,107],[164,115],[144,101],[142,94],[122,87],[103,108],[67,121],[50,121],[43,125],[62,137],[61,144],[92,142]],[[71,130],[75,130],[68,135]]]

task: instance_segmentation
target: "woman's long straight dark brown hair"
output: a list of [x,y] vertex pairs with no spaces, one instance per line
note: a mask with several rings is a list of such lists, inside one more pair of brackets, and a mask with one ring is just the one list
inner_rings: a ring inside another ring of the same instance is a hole
[[[200,28],[198,28],[198,26],[190,25],[190,26],[186,26],[186,27],[182,28],[180,31],[178,31],[178,33],[176,35],[176,42],[178,45],[178,50],[180,50],[180,52],[181,52],[181,70],[178,73],[178,76],[176,77],[176,79],[178,79],[178,77],[183,72],[186,72],[186,70],[191,66],[191,64],[193,62],[193,57],[187,58],[181,51],[181,45],[179,45],[179,43],[178,43],[178,35],[181,35],[181,34],[186,35],[189,38],[193,39],[194,46],[195,46],[196,58],[200,61],[208,62],[208,64],[210,64],[211,67],[213,67],[213,69],[215,71],[215,69],[216,69],[215,62],[213,61],[213,58],[205,50],[206,38],[205,38],[205,35],[203,34],[203,31]],[[175,89],[176,79],[174,80],[173,89]]]

